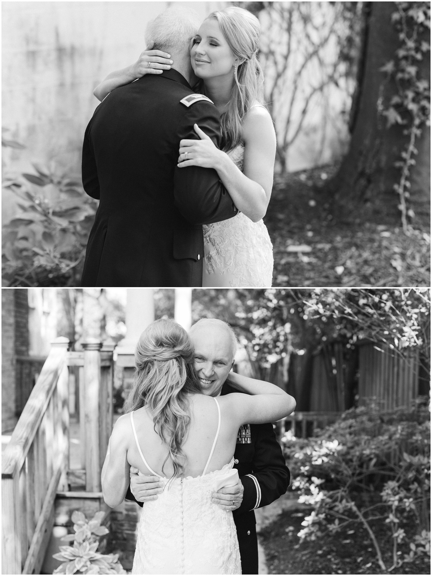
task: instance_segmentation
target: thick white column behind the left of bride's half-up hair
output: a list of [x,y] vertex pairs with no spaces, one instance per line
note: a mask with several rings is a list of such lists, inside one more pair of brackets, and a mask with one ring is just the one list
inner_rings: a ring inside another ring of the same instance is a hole
[[155,320],[153,288],[128,288],[126,297],[126,338],[121,340],[115,349],[119,365],[134,365],[133,355],[138,338],[153,320]]

